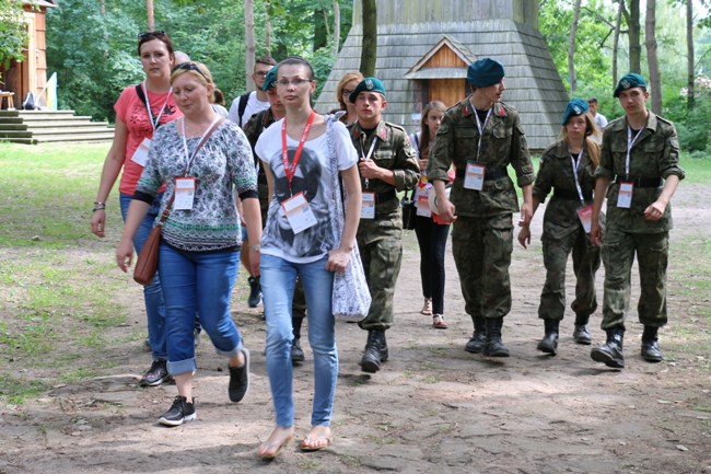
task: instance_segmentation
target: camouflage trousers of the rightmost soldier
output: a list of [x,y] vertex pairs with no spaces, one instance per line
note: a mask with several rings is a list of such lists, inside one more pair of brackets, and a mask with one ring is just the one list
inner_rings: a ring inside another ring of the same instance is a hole
[[636,254],[641,287],[637,307],[639,321],[645,326],[654,327],[666,324],[668,250],[668,232],[629,233],[610,229],[608,226],[603,238],[603,330],[625,325],[630,305],[630,279]]

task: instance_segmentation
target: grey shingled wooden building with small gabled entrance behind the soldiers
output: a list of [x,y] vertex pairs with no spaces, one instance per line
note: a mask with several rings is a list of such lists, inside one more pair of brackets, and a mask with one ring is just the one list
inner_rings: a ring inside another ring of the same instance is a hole
[[[338,107],[336,85],[360,67],[362,7],[316,107]],[[387,90],[385,118],[413,131],[427,102],[448,106],[467,94],[467,66],[504,65],[503,101],[521,113],[528,146],[543,150],[560,132],[568,94],[538,31],[536,0],[377,0],[376,76]]]

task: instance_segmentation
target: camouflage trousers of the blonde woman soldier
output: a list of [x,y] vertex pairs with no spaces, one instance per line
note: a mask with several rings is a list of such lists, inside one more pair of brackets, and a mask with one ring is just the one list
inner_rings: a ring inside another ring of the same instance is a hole
[[[544,265],[546,282],[540,293],[538,317],[543,320],[562,320],[566,313],[566,267],[568,256],[573,254],[573,274],[575,275],[575,299],[571,309],[576,321],[587,322],[597,309],[595,293],[595,274],[601,265],[599,247],[579,227],[562,239],[543,238]],[[579,323],[580,324],[580,323]]]

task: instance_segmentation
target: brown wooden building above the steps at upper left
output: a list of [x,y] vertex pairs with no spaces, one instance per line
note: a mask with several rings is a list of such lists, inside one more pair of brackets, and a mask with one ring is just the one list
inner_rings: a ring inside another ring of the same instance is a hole
[[45,15],[48,8],[56,8],[58,0],[23,0],[24,19],[27,25],[27,45],[23,61],[10,61],[8,68],[0,65],[4,84],[3,91],[14,92],[14,104],[21,107],[22,101],[32,91],[42,92],[47,84],[47,45],[45,39]]

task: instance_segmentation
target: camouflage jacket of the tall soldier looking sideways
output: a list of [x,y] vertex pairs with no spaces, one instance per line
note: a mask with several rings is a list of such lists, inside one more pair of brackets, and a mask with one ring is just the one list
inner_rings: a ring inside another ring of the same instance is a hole
[[465,189],[464,171],[467,163],[487,166],[487,173],[505,172],[511,164],[518,186],[529,185],[535,175],[526,137],[518,113],[503,102],[493,104],[481,136],[481,154],[477,155],[479,129],[476,111],[469,97],[446,111],[436,134],[428,163],[428,180],[448,182],[451,164],[457,170],[450,199],[458,216],[488,217],[518,211],[518,197],[506,173],[487,178],[481,190]]

